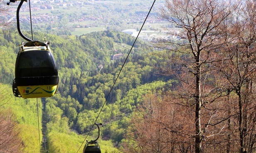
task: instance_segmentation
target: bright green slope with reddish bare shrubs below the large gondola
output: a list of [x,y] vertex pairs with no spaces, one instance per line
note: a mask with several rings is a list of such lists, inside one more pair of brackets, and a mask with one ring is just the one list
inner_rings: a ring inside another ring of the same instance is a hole
[[[39,151],[37,105],[33,100],[15,98],[10,85],[0,84],[1,152]],[[39,101],[40,103],[40,101]],[[39,110],[41,105],[39,105]],[[39,111],[39,117],[41,116]],[[41,121],[41,119],[39,119]],[[29,132],[28,132],[29,130]],[[5,135],[5,136],[4,136]],[[41,132],[40,132],[41,135]],[[7,140],[8,139],[8,140]]]

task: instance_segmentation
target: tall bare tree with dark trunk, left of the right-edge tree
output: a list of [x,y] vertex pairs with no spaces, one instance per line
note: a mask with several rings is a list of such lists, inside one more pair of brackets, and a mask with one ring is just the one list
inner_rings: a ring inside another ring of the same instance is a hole
[[184,88],[184,92],[179,93],[177,98],[185,98],[188,106],[195,109],[193,135],[195,153],[202,152],[202,141],[207,137],[206,129],[210,125],[226,120],[223,118],[216,123],[211,123],[216,112],[211,110],[212,114],[208,116],[208,121],[203,119],[206,123],[202,127],[201,110],[222,96],[219,86],[211,86],[211,79],[213,79],[211,65],[221,60],[219,50],[227,41],[230,41],[229,39],[226,42],[220,40],[226,33],[226,22],[237,6],[231,1],[222,0],[166,0],[166,7],[162,9],[162,17],[180,29],[176,33],[175,31],[171,33],[185,39],[178,42],[159,40],[161,48],[171,50],[173,53],[167,61],[170,64],[167,64],[168,67],[163,67],[161,72],[171,74],[189,86],[186,88],[188,90]]

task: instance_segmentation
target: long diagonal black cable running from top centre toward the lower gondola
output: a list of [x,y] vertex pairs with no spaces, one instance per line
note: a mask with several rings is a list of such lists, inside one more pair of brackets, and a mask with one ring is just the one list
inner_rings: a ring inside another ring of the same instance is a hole
[[[146,16],[146,18],[145,18],[145,20],[144,20],[142,26],[141,26],[141,29],[139,30],[139,33],[138,33],[138,35],[137,35],[137,37],[136,37],[136,39],[135,39],[135,41],[134,41],[134,43],[133,43],[133,45],[132,45],[132,47],[131,47],[131,49],[130,49],[128,55],[127,55],[127,57],[126,57],[126,59],[124,60],[124,63],[123,63],[123,65],[122,65],[122,67],[121,67],[121,69],[120,69],[120,71],[119,71],[119,73],[118,73],[118,75],[117,75],[117,77],[116,77],[116,79],[115,79],[115,82],[114,82],[113,86],[112,86],[111,89],[110,89],[110,92],[109,92],[108,95],[107,95],[107,98],[106,98],[105,102],[104,102],[103,105],[102,105],[102,108],[100,109],[100,112],[99,112],[98,116],[97,116],[96,119],[95,119],[95,122],[94,122],[93,126],[96,124],[96,122],[97,122],[97,120],[98,120],[98,117],[100,116],[100,113],[102,112],[102,109],[103,109],[103,107],[105,106],[105,104],[106,104],[106,102],[107,102],[107,99],[108,99],[108,97],[110,96],[110,93],[111,93],[112,89],[114,88],[115,83],[116,83],[116,81],[117,81],[117,79],[118,79],[120,73],[122,72],[122,69],[123,69],[123,67],[124,67],[124,64],[126,63],[128,57],[129,57],[129,55],[130,55],[130,53],[131,53],[131,51],[132,51],[132,48],[133,48],[134,44],[136,43],[137,38],[139,37],[139,34],[140,34],[140,32],[141,32],[141,30],[142,30],[142,28],[143,28],[143,26],[144,26],[144,24],[145,24],[145,22],[146,22],[146,19],[148,18],[149,13],[151,12],[151,10],[152,10],[152,8],[153,8],[155,2],[156,2],[156,0],[154,0],[153,4],[151,5],[151,8],[150,8],[150,10],[149,10],[149,12],[148,12],[148,14],[147,14],[147,16]],[[90,131],[93,129],[93,126],[90,128]],[[86,135],[86,137],[85,137],[83,143],[85,142],[86,138],[88,137],[90,131],[89,131],[88,134]],[[78,151],[79,151],[80,148],[83,146],[83,143],[82,143],[81,146],[78,148]],[[78,151],[77,151],[76,153],[78,153]],[[83,153],[86,153],[86,152],[83,152]]]

